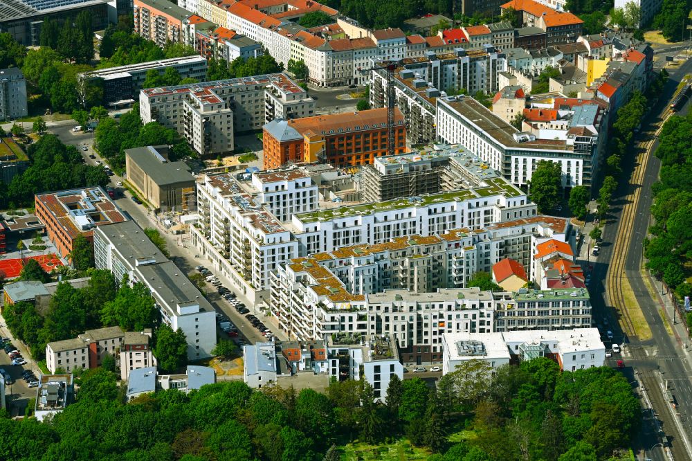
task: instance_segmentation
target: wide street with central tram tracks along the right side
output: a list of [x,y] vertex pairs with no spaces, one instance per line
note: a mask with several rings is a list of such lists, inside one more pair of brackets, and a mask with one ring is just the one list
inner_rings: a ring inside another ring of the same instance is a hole
[[[593,283],[590,286],[594,320],[607,319],[614,332],[614,341],[623,343],[621,356],[614,354],[608,361],[614,365],[621,359],[625,374],[635,392],[642,397],[644,427],[637,437],[638,448],[644,458],[670,459],[662,446],[659,428],[671,444],[675,459],[689,460],[686,435],[692,434],[689,417],[692,416],[692,387],[689,377],[692,366],[680,338],[671,338],[659,311],[659,302],[653,300],[640,271],[643,258],[642,241],[650,225],[651,185],[657,180],[660,162],[653,156],[657,146],[656,130],[667,114],[667,105],[677,83],[692,69],[687,61],[671,72],[657,107],[646,116],[637,139],[637,159],[628,162],[619,189],[614,195],[611,218],[603,228],[603,243],[598,260],[592,262]],[[631,174],[631,177],[630,177]],[[631,179],[630,179],[631,178]],[[635,299],[626,296],[628,284]],[[636,314],[636,303],[643,318]],[[664,318],[664,317],[663,317]],[[637,332],[648,324],[650,338],[639,338]],[[623,327],[622,329],[620,327]],[[677,408],[673,411],[664,391],[664,382],[673,388]],[[653,406],[653,410],[650,410]]]

